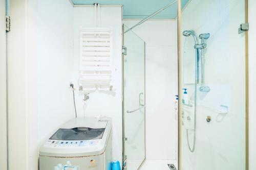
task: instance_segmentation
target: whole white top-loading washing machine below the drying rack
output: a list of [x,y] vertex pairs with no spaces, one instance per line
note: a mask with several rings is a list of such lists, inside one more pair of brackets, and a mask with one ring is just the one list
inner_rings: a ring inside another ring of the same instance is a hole
[[112,121],[74,118],[40,148],[39,170],[111,170]]

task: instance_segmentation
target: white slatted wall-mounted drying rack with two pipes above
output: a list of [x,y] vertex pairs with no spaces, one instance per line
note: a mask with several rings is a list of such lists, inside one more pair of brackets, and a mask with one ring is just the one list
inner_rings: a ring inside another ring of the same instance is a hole
[[113,31],[100,26],[100,8],[95,5],[95,28],[80,31],[79,90],[89,93],[96,90],[115,90],[112,81]]

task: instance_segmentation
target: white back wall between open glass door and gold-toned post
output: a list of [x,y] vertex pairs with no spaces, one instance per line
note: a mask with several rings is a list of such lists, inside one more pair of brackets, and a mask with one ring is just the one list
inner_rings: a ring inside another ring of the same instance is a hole
[[176,159],[177,21],[149,20],[133,31],[146,44],[146,159]]

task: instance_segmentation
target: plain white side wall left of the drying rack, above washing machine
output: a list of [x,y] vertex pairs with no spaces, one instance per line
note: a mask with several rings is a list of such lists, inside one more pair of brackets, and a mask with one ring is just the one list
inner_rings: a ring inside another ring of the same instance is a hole
[[69,1],[40,0],[37,8],[37,135],[44,142],[74,117],[73,7]]

